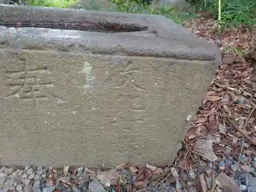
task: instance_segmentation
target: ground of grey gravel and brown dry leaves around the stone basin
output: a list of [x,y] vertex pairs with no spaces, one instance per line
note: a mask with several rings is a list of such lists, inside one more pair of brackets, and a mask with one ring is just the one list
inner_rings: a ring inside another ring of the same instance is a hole
[[256,192],[256,61],[253,53],[248,59],[237,52],[256,47],[256,33],[217,34],[217,23],[204,17],[183,25],[216,42],[223,63],[174,162],[96,169],[0,166],[0,192]]

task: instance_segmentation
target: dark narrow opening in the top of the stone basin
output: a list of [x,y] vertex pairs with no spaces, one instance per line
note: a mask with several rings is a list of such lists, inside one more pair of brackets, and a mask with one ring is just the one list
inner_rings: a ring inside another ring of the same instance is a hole
[[0,26],[5,27],[35,27],[35,28],[47,28],[47,29],[64,29],[64,30],[77,30],[77,31],[92,31],[101,33],[118,33],[118,32],[136,32],[145,31],[148,28],[138,25],[120,25],[116,23],[90,23],[90,22],[54,22],[54,21],[8,21],[5,22],[0,19]]

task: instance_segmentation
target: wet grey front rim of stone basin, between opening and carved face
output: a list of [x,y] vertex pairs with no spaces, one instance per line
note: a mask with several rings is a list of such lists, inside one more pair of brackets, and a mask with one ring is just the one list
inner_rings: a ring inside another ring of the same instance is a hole
[[218,57],[218,53],[191,48],[178,42],[178,40],[166,41],[164,38],[125,36],[118,33],[0,27],[0,48],[14,50],[75,51],[191,60],[216,60]]

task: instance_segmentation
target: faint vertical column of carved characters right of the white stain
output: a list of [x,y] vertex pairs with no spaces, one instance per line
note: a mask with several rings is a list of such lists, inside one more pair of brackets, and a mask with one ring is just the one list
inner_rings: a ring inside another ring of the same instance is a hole
[[113,145],[121,156],[127,157],[127,161],[130,158],[141,159],[143,154],[137,149],[142,146],[140,142],[135,142],[137,135],[134,133],[134,129],[139,128],[138,125],[145,121],[143,117],[146,109],[142,95],[147,89],[141,82],[141,71],[130,62],[123,70],[118,71],[118,74],[115,73],[112,79],[115,84],[112,90],[118,94],[109,109],[110,123],[118,127],[120,132],[117,136],[119,142]]

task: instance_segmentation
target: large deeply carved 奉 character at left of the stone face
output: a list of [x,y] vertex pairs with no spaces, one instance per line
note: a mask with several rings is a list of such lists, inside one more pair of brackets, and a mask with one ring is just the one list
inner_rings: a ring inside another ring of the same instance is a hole
[[49,90],[54,88],[50,80],[42,80],[41,76],[51,74],[46,68],[28,69],[27,61],[24,62],[23,70],[7,70],[3,72],[5,76],[4,84],[10,88],[9,94],[5,95],[6,98],[19,98],[22,100],[34,100],[38,107],[38,100],[41,99],[56,99],[57,103],[67,102],[59,96],[53,94]]

